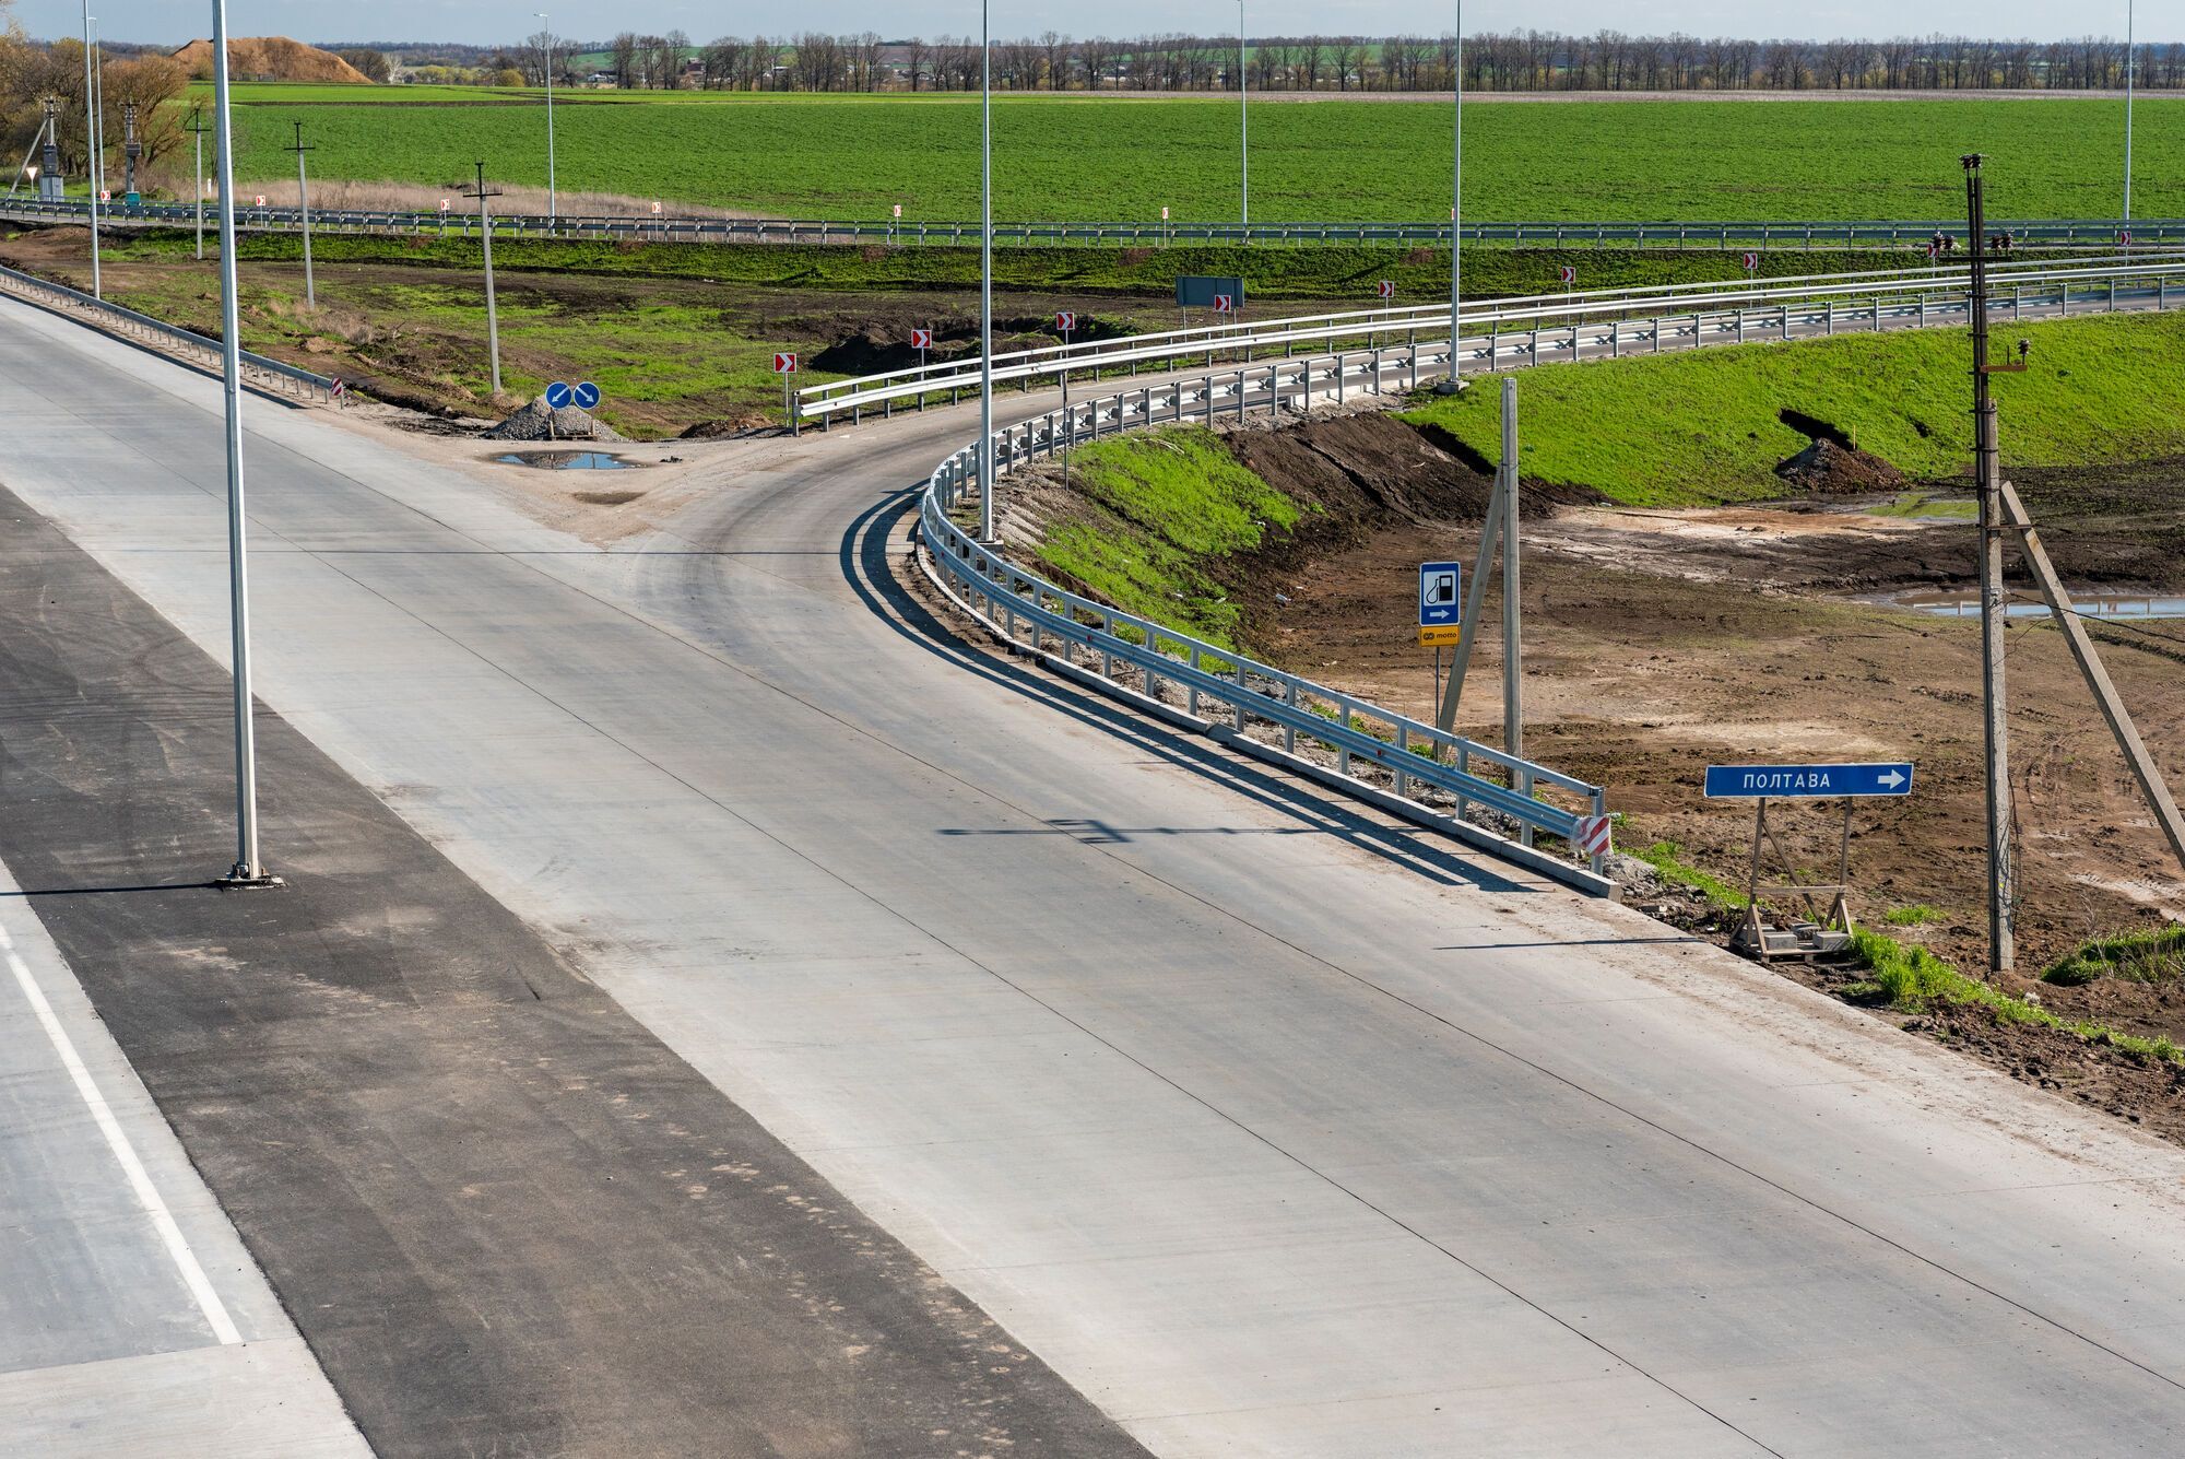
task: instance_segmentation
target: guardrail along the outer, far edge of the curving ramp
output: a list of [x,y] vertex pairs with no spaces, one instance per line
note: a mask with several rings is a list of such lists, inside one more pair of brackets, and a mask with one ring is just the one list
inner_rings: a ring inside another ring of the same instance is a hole
[[[2115,282],[2139,277],[2185,280],[2185,258],[2157,258],[2148,262],[2089,260],[2087,264],[2058,269],[2054,264],[2017,264],[1991,271],[1993,288],[2056,286],[2069,282]],[[1962,297],[1971,288],[1964,269],[1890,269],[1849,275],[1805,275],[1794,280],[1770,280],[1744,288],[1722,284],[1672,284],[1661,288],[1608,288],[1586,293],[1525,295],[1516,299],[1484,301],[1468,310],[1464,319],[1495,339],[1508,332],[1538,334],[1545,321],[1599,319],[1604,315],[1632,317],[1682,317],[1693,310],[1759,310],[1781,304],[1805,301],[1855,301],[1886,295],[1918,297]],[[1272,319],[1263,323],[1213,325],[1197,330],[1162,330],[1154,334],[1130,334],[1112,341],[1088,341],[1073,345],[1042,345],[1038,349],[1014,349],[994,356],[994,380],[1031,389],[1040,380],[1060,380],[1068,373],[1138,373],[1141,367],[1180,360],[1184,356],[1213,356],[1221,352],[1243,352],[1254,358],[1261,349],[1280,347],[1294,352],[1298,345],[1320,345],[1333,349],[1337,343],[1361,343],[1381,347],[1385,341],[1403,341],[1403,347],[1418,349],[1418,336],[1442,328],[1446,334],[1449,306],[1403,306],[1383,310],[1353,310],[1339,315],[1304,315]],[[1490,356],[1497,345],[1488,345]],[[1442,341],[1446,360],[1446,339]],[[826,384],[804,387],[795,393],[795,419],[832,424],[837,413],[848,413],[852,422],[863,419],[865,408],[894,413],[898,402],[922,406],[929,398],[946,395],[950,402],[979,391],[979,360],[946,360],[911,369],[891,369],[872,376],[854,376]]]

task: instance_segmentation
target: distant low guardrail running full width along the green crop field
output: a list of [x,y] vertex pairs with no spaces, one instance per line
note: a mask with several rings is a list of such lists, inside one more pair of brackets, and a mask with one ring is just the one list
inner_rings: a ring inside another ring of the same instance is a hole
[[[90,203],[0,201],[0,218],[83,221]],[[192,203],[103,203],[101,218],[118,227],[184,223]],[[310,210],[312,229],[363,234],[470,236],[476,218],[459,212],[402,210]],[[238,207],[236,225],[249,229],[293,229],[297,207]],[[2130,229],[2135,242],[2185,242],[2185,218],[2010,218],[1993,225],[2025,247],[2115,247]],[[979,242],[972,221],[828,221],[828,218],[671,218],[671,216],[557,216],[509,214],[494,218],[496,236],[516,238],[616,238],[658,242],[885,242],[898,247],[966,247]],[[1958,238],[1964,218],[1851,218],[1851,221],[1715,221],[1715,223],[1466,223],[1464,240],[1510,247],[1680,247],[1680,249],[1849,249],[1910,247],[1942,234]],[[1186,242],[1449,242],[1449,223],[996,223],[994,242],[1023,247],[1173,247]]]

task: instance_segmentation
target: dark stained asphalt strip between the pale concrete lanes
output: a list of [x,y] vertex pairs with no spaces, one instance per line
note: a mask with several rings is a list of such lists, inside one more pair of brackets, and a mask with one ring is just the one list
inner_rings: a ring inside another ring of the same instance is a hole
[[4,491],[0,622],[0,861],[378,1452],[1143,1452],[264,708],[216,891],[225,671]]

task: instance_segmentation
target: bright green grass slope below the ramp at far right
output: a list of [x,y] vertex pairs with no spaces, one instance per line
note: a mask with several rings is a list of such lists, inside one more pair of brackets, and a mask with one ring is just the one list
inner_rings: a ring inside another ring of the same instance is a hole
[[[2004,461],[2087,465],[2185,452],[2176,406],[2185,317],[2006,325],[2034,341],[2032,369],[1997,376]],[[1619,502],[1696,507],[1783,491],[1776,463],[1807,437],[1785,408],[1824,419],[1912,476],[1956,476],[1973,454],[1962,330],[1851,334],[1519,376],[1525,474]],[[1497,391],[1436,400],[1405,419],[1501,454]]]

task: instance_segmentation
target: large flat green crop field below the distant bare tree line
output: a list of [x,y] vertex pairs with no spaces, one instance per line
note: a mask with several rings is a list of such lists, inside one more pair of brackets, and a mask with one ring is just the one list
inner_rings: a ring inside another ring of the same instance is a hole
[[[243,87],[243,177],[282,177],[291,122],[319,177],[446,183],[485,157],[546,181],[538,96],[468,87]],[[977,216],[979,107],[964,96],[568,92],[559,183],[736,212]],[[1991,157],[1999,216],[2113,216],[2122,103],[1495,103],[1466,111],[1466,214],[1554,218],[1929,218],[1964,207],[1958,155]],[[1237,216],[1237,105],[1224,98],[1001,98],[996,216]],[[1449,107],[1263,103],[1252,216],[1442,218]],[[2135,212],[2185,214],[2185,100],[2137,120]]]

